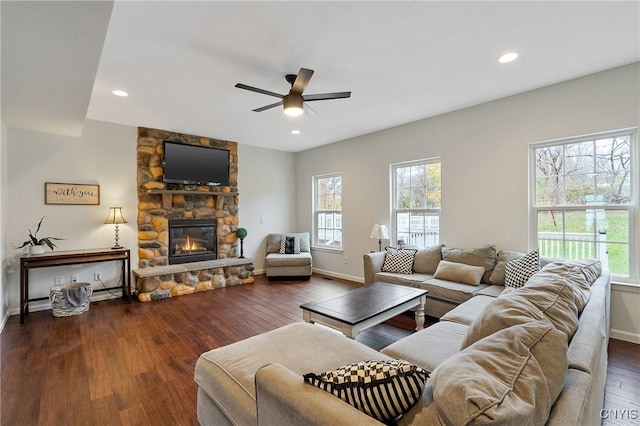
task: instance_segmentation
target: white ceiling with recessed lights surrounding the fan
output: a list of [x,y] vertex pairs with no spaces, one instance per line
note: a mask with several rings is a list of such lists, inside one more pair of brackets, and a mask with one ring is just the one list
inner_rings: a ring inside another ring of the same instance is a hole
[[[90,118],[296,152],[640,60],[639,1],[1,7],[3,121],[61,134]],[[234,87],[285,94],[300,67],[315,70],[305,94],[352,97],[290,118]]]

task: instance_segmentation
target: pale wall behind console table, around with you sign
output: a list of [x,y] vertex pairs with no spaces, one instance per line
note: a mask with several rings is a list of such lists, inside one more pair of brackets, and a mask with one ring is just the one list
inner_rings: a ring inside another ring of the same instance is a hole
[[[59,250],[111,247],[113,225],[105,225],[109,206],[122,206],[126,224],[120,225],[120,244],[131,248],[132,266],[137,265],[137,129],[100,121],[87,121],[82,136],[58,136],[9,128],[7,131],[7,217],[5,261],[8,273],[11,314],[19,308],[19,256],[25,249],[15,246],[27,239],[45,217],[38,236],[64,238]],[[44,183],[88,183],[100,185],[100,205],[46,205]],[[48,250],[48,249],[47,249]],[[34,269],[30,272],[30,296],[45,297],[54,277],[70,282],[78,274],[81,282],[93,282],[93,271],[103,274],[108,287],[117,286],[119,262]],[[95,288],[100,284],[95,283]],[[108,297],[96,294],[96,299]],[[34,302],[31,310],[48,308],[48,302]]]

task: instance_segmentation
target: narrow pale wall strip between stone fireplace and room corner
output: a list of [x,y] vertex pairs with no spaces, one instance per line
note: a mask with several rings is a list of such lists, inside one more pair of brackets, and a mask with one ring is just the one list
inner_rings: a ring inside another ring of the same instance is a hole
[[294,154],[238,144],[238,192],[244,255],[263,273],[267,234],[296,230]]

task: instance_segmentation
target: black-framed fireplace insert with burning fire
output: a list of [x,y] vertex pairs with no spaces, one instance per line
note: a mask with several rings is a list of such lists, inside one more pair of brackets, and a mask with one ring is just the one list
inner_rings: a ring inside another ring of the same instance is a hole
[[215,219],[169,220],[169,264],[217,258]]

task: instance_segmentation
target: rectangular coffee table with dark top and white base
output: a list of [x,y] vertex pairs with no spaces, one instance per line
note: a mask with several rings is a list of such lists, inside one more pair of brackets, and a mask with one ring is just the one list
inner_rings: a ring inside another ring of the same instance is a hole
[[427,293],[419,288],[376,282],[300,308],[306,322],[335,328],[355,339],[360,331],[416,306],[416,330],[422,330]]

